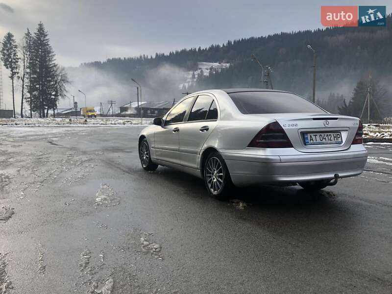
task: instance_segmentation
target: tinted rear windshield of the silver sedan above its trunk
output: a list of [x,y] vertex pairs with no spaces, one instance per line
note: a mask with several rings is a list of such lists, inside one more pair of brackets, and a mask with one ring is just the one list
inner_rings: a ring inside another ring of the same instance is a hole
[[285,92],[237,92],[228,94],[243,114],[325,113],[300,96]]

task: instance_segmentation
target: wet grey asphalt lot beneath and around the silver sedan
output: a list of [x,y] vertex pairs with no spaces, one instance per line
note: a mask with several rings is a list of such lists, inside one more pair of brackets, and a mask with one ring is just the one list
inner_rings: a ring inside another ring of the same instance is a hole
[[324,192],[232,203],[143,171],[139,131],[0,128],[1,294],[392,293],[392,145]]

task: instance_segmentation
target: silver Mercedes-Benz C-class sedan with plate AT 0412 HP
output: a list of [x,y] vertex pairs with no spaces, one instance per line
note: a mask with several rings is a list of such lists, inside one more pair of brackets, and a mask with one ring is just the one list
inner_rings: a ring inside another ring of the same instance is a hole
[[253,184],[319,190],[361,174],[368,152],[358,118],[328,113],[293,93],[223,89],[193,93],[139,137],[142,167],[204,178],[218,198]]

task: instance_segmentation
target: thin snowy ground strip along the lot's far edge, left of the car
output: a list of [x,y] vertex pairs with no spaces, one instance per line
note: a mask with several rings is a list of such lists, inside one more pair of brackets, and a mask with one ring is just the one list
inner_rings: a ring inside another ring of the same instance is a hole
[[[152,119],[143,119],[143,125],[152,123]],[[21,126],[56,126],[56,125],[141,125],[139,118],[47,118],[47,119],[0,119],[0,125],[21,125]]]

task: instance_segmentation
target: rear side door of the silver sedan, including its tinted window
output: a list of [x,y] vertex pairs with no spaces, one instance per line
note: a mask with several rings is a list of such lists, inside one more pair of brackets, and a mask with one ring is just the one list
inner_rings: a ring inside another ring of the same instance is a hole
[[212,96],[199,95],[181,126],[179,152],[181,165],[198,168],[200,150],[214,130],[218,120],[218,108]]

